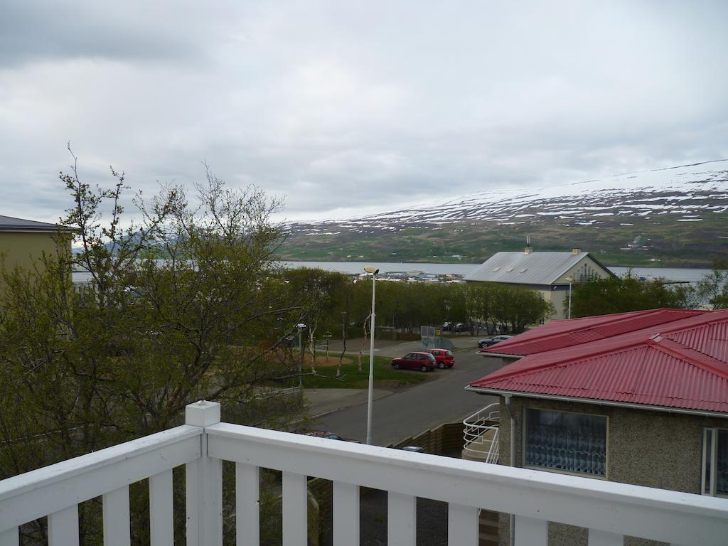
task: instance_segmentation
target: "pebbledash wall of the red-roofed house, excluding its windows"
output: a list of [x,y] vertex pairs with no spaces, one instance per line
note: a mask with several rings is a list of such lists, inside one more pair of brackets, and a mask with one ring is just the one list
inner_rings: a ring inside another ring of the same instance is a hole
[[[524,408],[602,415],[607,417],[607,480],[695,494],[700,494],[703,428],[728,427],[728,419],[717,417],[526,397],[512,397],[511,408],[513,414],[501,397],[499,464],[510,465],[511,415],[515,419],[515,466],[523,464]],[[500,544],[509,545],[508,515],[501,515],[499,531]],[[662,543],[625,539],[628,546],[658,544]],[[549,523],[549,545],[587,546],[587,529]]]

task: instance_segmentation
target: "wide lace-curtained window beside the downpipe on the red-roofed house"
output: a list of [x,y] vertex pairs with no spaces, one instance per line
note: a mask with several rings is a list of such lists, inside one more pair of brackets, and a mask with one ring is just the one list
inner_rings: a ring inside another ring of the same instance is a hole
[[524,461],[606,477],[606,417],[526,408]]

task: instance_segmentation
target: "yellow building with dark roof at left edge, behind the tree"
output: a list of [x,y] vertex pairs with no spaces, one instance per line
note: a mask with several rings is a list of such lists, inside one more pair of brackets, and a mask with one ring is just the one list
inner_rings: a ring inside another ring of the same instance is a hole
[[0,215],[0,269],[31,269],[44,253],[58,256],[59,252],[71,255],[70,228]]

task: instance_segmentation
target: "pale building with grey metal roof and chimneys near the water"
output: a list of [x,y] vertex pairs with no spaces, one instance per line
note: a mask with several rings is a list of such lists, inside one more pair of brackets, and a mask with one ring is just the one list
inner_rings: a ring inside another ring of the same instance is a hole
[[566,318],[564,301],[574,282],[593,277],[613,277],[590,253],[572,248],[571,252],[499,252],[465,275],[467,282],[498,282],[534,290],[550,301],[555,312],[551,320]]

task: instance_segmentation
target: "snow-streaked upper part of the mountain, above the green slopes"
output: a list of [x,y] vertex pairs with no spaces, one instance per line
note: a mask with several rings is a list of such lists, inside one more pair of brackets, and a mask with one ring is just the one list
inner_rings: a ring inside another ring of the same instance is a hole
[[293,224],[294,232],[397,229],[422,224],[467,221],[527,223],[539,218],[577,225],[599,225],[611,216],[674,215],[678,221],[703,220],[706,213],[728,211],[728,159],[660,170],[615,175],[601,180],[541,188],[507,188],[451,197],[344,221]]

